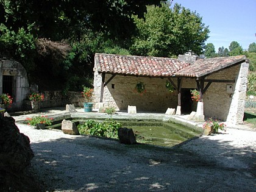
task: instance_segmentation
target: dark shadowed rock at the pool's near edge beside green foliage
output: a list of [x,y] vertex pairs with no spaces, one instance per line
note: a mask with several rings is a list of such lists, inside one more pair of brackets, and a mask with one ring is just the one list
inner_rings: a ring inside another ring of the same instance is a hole
[[120,143],[124,144],[136,144],[136,138],[132,129],[126,127],[118,129],[118,138]]

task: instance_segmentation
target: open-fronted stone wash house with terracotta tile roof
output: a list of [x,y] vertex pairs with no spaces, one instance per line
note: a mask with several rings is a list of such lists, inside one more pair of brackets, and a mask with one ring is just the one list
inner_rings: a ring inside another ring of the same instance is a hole
[[[203,118],[216,118],[232,124],[243,123],[249,63],[244,55],[179,59],[133,55],[95,54],[94,102],[137,112],[162,112],[176,108],[176,115],[192,111]],[[175,90],[166,89],[166,81]],[[143,82],[146,93],[138,94],[135,85]],[[200,91],[193,102],[190,90]],[[99,104],[99,105],[98,105]]]

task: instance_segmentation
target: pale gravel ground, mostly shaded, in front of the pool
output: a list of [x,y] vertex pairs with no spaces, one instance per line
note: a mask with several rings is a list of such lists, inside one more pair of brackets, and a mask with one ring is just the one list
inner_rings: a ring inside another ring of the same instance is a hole
[[256,132],[226,129],[176,148],[119,144],[17,124],[48,191],[255,191]]

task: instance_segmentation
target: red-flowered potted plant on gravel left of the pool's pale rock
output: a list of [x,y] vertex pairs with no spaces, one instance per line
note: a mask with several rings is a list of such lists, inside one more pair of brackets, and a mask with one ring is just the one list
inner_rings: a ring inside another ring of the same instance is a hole
[[33,116],[32,118],[26,118],[28,125],[36,126],[37,129],[44,129],[46,125],[50,126],[52,124],[53,118],[48,118],[48,116]]

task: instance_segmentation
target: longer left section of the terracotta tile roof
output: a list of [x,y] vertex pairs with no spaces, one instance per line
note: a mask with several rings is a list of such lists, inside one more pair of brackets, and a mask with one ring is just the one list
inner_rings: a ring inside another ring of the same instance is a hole
[[168,77],[190,65],[177,59],[132,55],[95,54],[100,73]]

